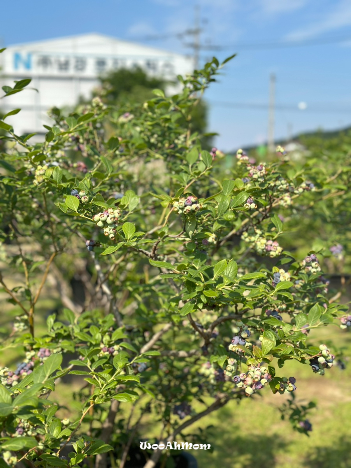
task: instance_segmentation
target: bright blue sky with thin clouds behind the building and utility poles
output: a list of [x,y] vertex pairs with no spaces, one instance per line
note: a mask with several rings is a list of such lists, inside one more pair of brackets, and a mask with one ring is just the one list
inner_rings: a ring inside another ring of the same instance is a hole
[[[286,138],[291,131],[351,124],[351,0],[18,0],[2,12],[0,39],[8,46],[97,32],[189,54],[184,41],[175,37],[146,41],[145,36],[193,27],[195,5],[207,20],[202,23],[202,43],[222,47],[203,51],[202,63],[214,54],[222,60],[238,52],[206,95],[209,130],[220,133],[219,148],[231,150],[266,139],[271,73],[277,80],[276,138]],[[327,43],[335,38],[342,40]],[[243,47],[286,41],[326,42]],[[298,110],[299,102],[307,103],[306,110]]]

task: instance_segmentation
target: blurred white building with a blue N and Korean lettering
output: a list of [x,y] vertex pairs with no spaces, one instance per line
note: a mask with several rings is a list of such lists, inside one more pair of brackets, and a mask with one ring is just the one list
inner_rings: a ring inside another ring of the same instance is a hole
[[[44,133],[50,125],[47,110],[73,106],[80,96],[89,98],[98,77],[118,68],[140,66],[148,75],[174,80],[193,70],[191,58],[101,34],[84,34],[8,47],[0,54],[0,87],[32,78],[24,91],[0,100],[17,134]],[[38,91],[36,91],[38,90]]]

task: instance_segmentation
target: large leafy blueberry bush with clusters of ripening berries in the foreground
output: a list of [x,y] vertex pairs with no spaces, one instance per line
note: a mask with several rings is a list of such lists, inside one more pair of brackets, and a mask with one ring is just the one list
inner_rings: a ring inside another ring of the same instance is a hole
[[[330,372],[332,347],[312,346],[309,333],[351,325],[322,272],[324,257],[347,258],[350,239],[343,229],[329,243],[325,227],[313,232],[318,250],[285,244],[306,213],[311,226],[328,213],[345,224],[349,160],[297,164],[278,147],[256,162],[239,149],[225,169],[191,119],[225,62],[142,105],[106,104],[102,88],[68,116],[54,108],[44,142],[6,122],[19,109],[0,121],[0,285],[15,317],[3,361],[20,350],[0,370],[2,468],[123,468],[149,439],[144,421],[166,445],[229,401],[267,391],[290,395],[283,417],[312,429],[313,404],[295,400],[298,375],[284,364],[310,366],[315,379]],[[4,98],[29,82],[4,87]],[[165,466],[167,452],[146,446],[145,468]]]

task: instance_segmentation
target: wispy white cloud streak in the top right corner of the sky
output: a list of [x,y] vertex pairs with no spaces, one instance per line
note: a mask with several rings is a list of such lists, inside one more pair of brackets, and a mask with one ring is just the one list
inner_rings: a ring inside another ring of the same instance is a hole
[[316,23],[300,28],[285,36],[285,39],[299,41],[312,38],[319,34],[343,28],[351,25],[351,2],[342,0],[332,12],[327,12],[324,17]]

